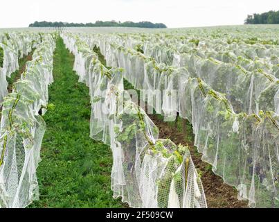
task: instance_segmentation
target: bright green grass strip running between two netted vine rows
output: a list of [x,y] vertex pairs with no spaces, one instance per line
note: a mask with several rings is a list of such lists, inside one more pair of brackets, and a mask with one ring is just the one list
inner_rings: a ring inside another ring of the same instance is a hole
[[37,169],[40,199],[30,207],[123,207],[110,188],[112,153],[89,137],[89,88],[72,71],[73,55],[57,40],[47,129]]

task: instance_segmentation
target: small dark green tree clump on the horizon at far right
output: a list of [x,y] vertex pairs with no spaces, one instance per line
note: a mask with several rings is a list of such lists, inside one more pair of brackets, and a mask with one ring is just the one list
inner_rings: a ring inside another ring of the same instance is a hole
[[244,24],[279,24],[279,10],[248,15]]

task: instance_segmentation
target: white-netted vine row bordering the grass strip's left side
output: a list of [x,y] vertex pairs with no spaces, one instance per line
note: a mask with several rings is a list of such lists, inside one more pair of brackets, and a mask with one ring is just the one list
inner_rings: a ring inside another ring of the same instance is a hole
[[38,197],[36,169],[46,124],[55,40],[44,35],[33,60],[3,101],[0,128],[0,207],[26,207]]

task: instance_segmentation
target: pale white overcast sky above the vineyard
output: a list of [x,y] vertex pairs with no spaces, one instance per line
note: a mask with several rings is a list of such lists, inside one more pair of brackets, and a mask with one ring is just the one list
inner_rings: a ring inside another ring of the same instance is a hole
[[279,0],[4,0],[0,28],[35,21],[150,21],[169,28],[243,24],[246,15],[279,10]]

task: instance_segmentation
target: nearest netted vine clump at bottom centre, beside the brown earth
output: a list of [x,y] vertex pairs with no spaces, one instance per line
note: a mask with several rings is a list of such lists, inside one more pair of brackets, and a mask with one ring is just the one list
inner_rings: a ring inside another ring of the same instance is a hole
[[159,139],[145,152],[140,174],[145,207],[206,207],[204,189],[187,147]]

